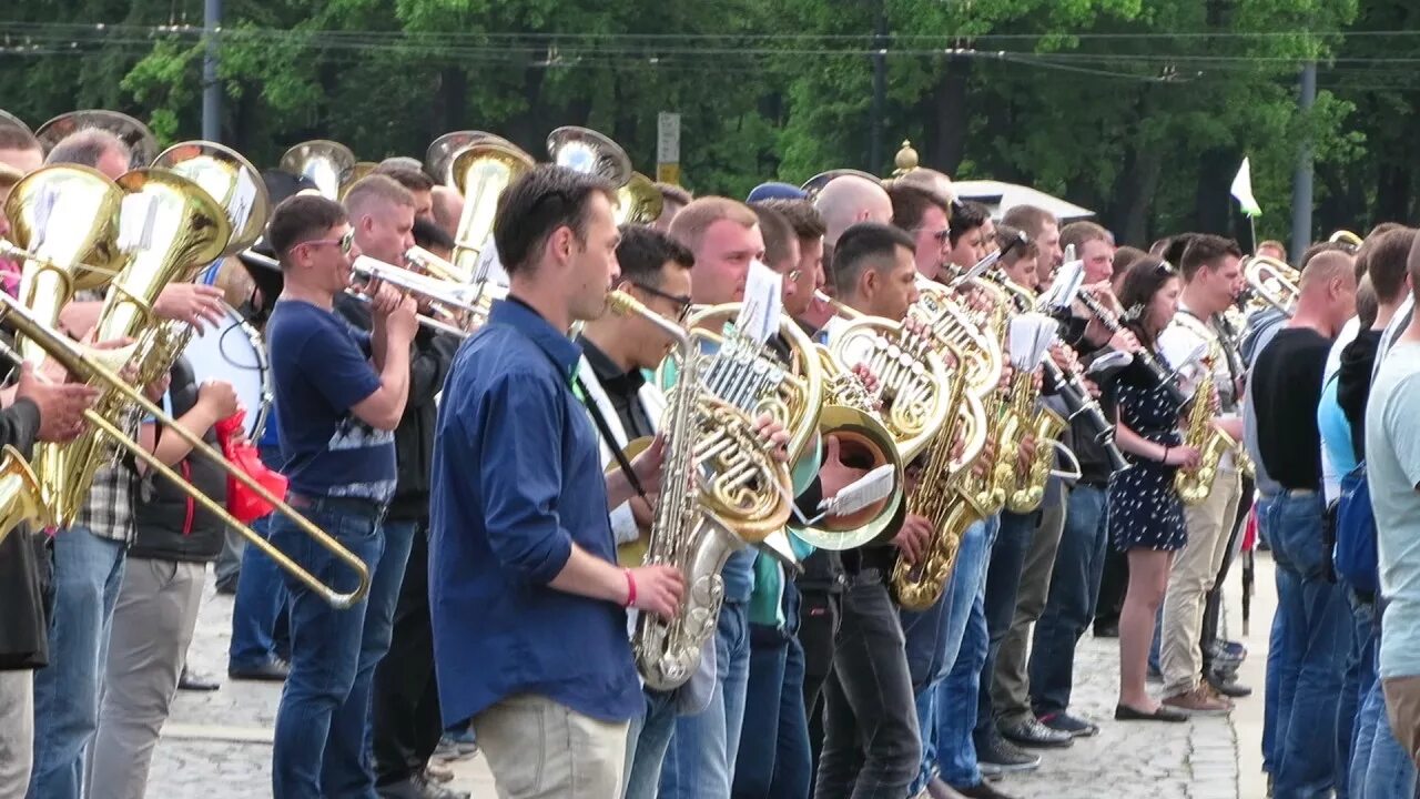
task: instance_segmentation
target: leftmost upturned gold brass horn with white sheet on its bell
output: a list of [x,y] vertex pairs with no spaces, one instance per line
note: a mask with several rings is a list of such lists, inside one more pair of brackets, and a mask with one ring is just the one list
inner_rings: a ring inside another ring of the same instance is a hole
[[[14,245],[0,254],[23,262],[20,301],[41,323],[54,327],[60,310],[75,291],[105,286],[122,260],[118,249],[118,209],[124,191],[98,169],[74,163],[43,166],[10,191],[4,216]],[[17,348],[26,360],[44,351],[24,338]]]

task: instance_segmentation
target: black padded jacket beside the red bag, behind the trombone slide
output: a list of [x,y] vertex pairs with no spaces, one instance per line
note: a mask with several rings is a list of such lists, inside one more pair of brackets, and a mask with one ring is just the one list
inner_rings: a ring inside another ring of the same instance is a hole
[[[200,387],[186,358],[178,358],[170,374],[168,394],[172,398],[172,415],[182,418],[197,404]],[[159,427],[158,435],[175,434]],[[217,448],[216,429],[209,428],[202,439]],[[189,455],[172,469],[219,505],[226,505],[227,475],[212,461]],[[139,481],[133,522],[138,535],[128,550],[131,557],[207,563],[222,552],[226,530],[222,520],[152,471]]]

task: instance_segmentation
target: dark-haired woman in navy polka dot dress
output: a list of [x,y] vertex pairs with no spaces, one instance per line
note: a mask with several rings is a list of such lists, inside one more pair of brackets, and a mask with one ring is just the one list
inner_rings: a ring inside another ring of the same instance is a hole
[[[1166,260],[1145,257],[1135,262],[1119,286],[1119,303],[1126,309],[1129,328],[1140,345],[1154,350],[1159,333],[1179,309],[1183,281]],[[1156,355],[1159,357],[1159,355]],[[1183,549],[1189,529],[1183,503],[1173,489],[1179,466],[1198,459],[1196,449],[1181,446],[1180,408],[1169,400],[1147,371],[1135,365],[1115,382],[1119,424],[1116,441],[1132,468],[1109,482],[1109,539],[1129,557],[1129,589],[1119,614],[1119,721],[1184,721],[1181,711],[1162,705],[1149,695],[1145,675],[1154,618],[1169,587],[1173,553]]]

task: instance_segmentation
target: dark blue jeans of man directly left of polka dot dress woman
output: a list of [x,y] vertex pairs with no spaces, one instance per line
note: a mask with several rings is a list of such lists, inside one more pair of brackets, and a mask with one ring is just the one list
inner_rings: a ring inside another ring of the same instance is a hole
[[1076,485],[1069,492],[1051,590],[1045,613],[1035,623],[1031,645],[1031,705],[1035,715],[1069,708],[1075,685],[1075,645],[1095,617],[1105,570],[1108,500],[1109,492],[1103,488]]

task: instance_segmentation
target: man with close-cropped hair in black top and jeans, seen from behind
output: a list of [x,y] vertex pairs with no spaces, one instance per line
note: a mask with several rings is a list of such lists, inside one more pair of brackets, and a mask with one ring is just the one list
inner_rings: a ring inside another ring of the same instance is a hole
[[[1278,606],[1268,653],[1277,701],[1264,719],[1264,761],[1278,796],[1325,793],[1336,773],[1336,702],[1352,628],[1340,589],[1328,579],[1325,500],[1316,405],[1331,341],[1355,313],[1353,257],[1328,252],[1302,272],[1296,311],[1262,348],[1248,391],[1261,465],[1279,493],[1260,503],[1277,559]],[[1375,421],[1375,418],[1372,418]],[[1380,492],[1373,492],[1372,498]],[[1279,634],[1278,634],[1279,633]]]

